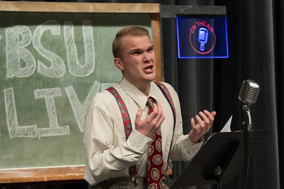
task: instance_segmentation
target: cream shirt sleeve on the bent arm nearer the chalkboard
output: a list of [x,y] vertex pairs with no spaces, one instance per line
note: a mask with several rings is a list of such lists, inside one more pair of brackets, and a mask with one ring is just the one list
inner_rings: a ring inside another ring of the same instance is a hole
[[84,125],[86,169],[93,177],[94,183],[115,177],[120,170],[135,165],[152,142],[151,138],[134,129],[125,143],[114,148],[116,133],[113,129],[112,113],[102,107],[91,107],[86,114]]

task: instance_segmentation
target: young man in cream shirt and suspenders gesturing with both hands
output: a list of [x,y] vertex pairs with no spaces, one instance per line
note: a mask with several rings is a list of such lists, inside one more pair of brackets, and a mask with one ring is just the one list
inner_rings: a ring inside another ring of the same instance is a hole
[[[200,111],[195,116],[198,123],[191,118],[192,130],[183,135],[176,92],[169,84],[162,83],[171,96],[172,108],[162,90],[153,83],[155,53],[145,28],[121,29],[113,42],[113,54],[114,64],[123,74],[122,81],[114,86],[120,96],[105,90],[91,101],[84,122],[87,155],[84,179],[94,188],[144,189],[148,187],[148,147],[157,131],[161,134],[163,169],[168,169],[171,160],[189,161],[197,153],[216,112]],[[156,102],[151,113],[146,105],[149,96]],[[122,116],[124,104],[127,116]],[[125,128],[130,126],[132,132],[126,139]],[[130,172],[133,166],[136,166],[134,175]],[[150,187],[164,188],[162,183]]]

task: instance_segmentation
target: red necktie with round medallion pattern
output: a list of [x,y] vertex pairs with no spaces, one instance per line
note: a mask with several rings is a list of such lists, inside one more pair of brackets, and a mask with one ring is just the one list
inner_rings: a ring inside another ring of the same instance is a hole
[[[153,111],[154,99],[149,96],[146,105],[149,114]],[[148,189],[165,189],[162,179],[165,178],[163,166],[161,128],[154,135],[153,142],[148,147]]]

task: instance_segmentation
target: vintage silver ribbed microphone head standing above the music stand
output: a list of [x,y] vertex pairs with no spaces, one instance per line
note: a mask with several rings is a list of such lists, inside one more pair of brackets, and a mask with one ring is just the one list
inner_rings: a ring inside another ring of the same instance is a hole
[[244,120],[243,125],[248,125],[248,130],[252,129],[252,118],[250,107],[253,103],[256,103],[258,95],[260,91],[260,86],[258,83],[252,80],[245,80],[243,81],[239,100],[241,100],[243,104],[243,111],[244,111]]

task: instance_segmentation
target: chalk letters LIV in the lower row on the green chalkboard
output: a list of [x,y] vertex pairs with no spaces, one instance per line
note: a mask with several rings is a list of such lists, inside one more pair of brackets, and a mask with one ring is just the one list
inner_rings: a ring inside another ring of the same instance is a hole
[[[74,118],[77,122],[77,126],[81,132],[83,132],[83,121],[85,112],[88,108],[90,101],[93,96],[96,95],[101,90],[105,90],[110,86],[114,86],[115,83],[102,83],[94,81],[86,99],[83,103],[80,102],[73,86],[68,86],[65,88],[66,95],[68,96],[69,102],[74,113]],[[10,139],[15,137],[49,137],[49,136],[60,136],[70,134],[69,125],[59,126],[57,120],[56,105],[54,102],[54,97],[61,96],[60,88],[51,89],[37,89],[34,90],[34,97],[36,100],[44,98],[45,106],[48,116],[48,125],[46,128],[38,128],[37,125],[27,125],[21,126],[18,124],[16,104],[14,99],[14,91],[12,88],[3,90],[4,101],[5,101],[5,112],[6,112],[6,122],[9,132]],[[40,125],[41,126],[41,125]]]

